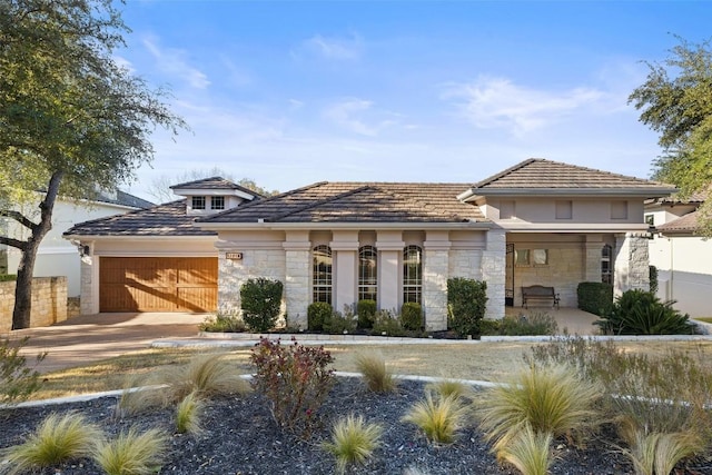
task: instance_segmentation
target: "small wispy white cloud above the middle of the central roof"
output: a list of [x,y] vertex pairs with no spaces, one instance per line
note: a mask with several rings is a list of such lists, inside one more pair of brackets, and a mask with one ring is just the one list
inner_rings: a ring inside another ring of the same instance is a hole
[[375,137],[398,123],[396,113],[376,110],[373,106],[369,100],[346,98],[328,106],[324,117],[350,132],[367,137]]

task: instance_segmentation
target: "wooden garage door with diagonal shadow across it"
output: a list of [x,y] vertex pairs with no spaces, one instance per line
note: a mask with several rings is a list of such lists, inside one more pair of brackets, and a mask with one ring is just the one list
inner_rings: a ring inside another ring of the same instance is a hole
[[217,257],[102,257],[100,311],[215,311]]

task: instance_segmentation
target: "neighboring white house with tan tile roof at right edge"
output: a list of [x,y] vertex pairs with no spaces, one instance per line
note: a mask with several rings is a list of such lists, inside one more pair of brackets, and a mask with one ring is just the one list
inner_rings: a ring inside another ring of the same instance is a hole
[[645,219],[657,235],[650,244],[650,264],[657,268],[657,296],[676,300],[692,317],[710,317],[712,240],[696,235],[698,208],[709,194],[688,200],[657,199],[645,206]]

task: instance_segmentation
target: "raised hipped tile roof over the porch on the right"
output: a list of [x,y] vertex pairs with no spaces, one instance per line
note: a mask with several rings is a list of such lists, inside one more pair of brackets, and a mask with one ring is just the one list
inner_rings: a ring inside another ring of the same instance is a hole
[[473,192],[486,195],[496,189],[655,189],[673,188],[656,181],[626,177],[593,168],[562,164],[543,158],[530,158],[473,187]]

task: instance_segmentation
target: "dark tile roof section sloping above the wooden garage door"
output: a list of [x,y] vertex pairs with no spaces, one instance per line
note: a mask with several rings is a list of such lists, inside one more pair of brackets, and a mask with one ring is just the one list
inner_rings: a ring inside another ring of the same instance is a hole
[[186,200],[167,202],[149,209],[109,216],[75,225],[65,236],[215,236],[192,225],[186,215]]

